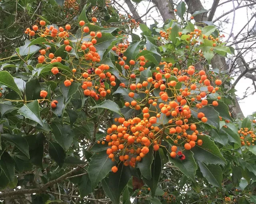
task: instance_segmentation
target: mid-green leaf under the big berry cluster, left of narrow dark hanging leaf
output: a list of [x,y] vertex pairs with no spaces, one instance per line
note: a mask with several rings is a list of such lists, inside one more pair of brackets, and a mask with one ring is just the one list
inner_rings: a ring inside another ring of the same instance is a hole
[[150,180],[152,175],[151,175],[151,165],[153,162],[153,147],[150,145],[149,152],[141,159],[140,162],[138,162],[137,167],[140,169],[141,175],[145,178]]

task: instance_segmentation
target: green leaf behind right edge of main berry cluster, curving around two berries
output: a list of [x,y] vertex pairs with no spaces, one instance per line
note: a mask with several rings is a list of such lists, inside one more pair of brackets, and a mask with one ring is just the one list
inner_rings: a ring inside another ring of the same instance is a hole
[[220,129],[220,118],[218,112],[212,106],[204,106],[198,109],[197,112],[191,110],[191,114],[194,118],[197,118],[199,112],[204,113],[204,116],[208,119],[206,124],[210,125],[212,128]]

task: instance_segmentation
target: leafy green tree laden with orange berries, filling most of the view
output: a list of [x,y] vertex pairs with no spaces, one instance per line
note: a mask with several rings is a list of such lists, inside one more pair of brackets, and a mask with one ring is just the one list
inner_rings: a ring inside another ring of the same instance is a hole
[[4,3],[31,25],[1,37],[0,202],[255,203],[256,114],[232,117],[234,52],[190,2],[161,27],[117,2]]

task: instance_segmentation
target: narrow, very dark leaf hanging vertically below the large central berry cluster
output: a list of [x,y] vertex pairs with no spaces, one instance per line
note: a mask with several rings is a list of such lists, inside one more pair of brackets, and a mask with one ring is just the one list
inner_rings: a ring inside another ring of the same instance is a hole
[[154,161],[151,165],[151,179],[148,180],[143,178],[143,182],[150,187],[150,192],[152,197],[156,195],[156,188],[158,185],[158,180],[162,171],[162,160],[159,154],[159,151],[154,152]]

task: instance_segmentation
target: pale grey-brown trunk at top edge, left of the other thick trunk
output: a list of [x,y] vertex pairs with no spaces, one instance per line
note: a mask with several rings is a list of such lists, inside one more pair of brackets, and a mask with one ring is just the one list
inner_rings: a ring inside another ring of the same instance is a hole
[[172,0],[152,0],[158,8],[164,21],[168,19],[175,19],[174,8]]

